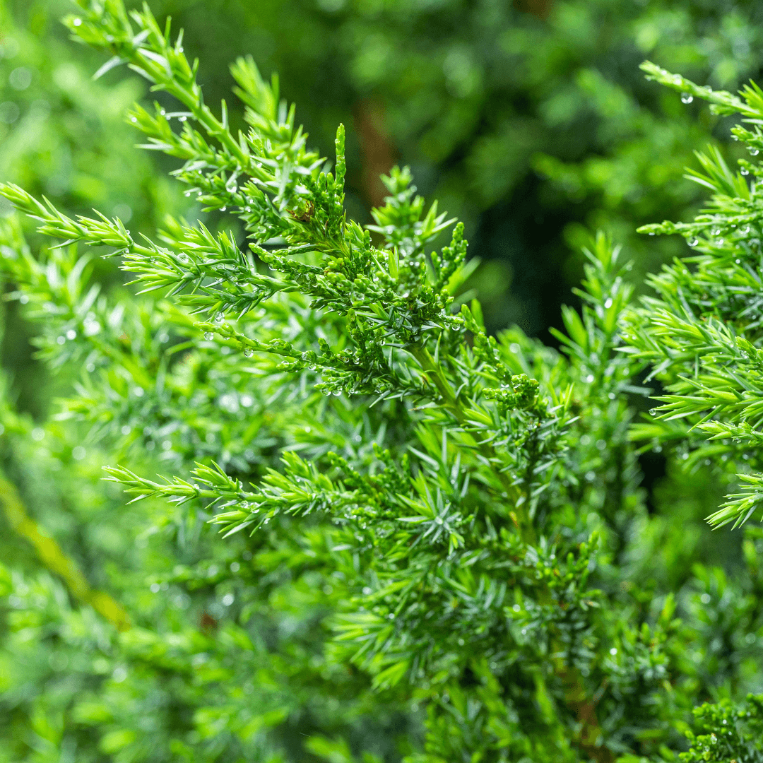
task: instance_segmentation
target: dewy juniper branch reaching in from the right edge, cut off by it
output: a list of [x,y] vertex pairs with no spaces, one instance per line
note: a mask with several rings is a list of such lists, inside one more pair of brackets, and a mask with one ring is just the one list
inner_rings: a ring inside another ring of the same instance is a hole
[[[752,156],[760,150],[758,123],[763,98],[757,85],[746,85],[739,97],[699,87],[651,63],[642,66],[649,79],[686,93],[684,101],[710,101],[718,114],[742,114],[732,134]],[[636,427],[634,436],[653,441],[687,439],[689,467],[708,459],[732,459],[741,483],[708,520],[713,526],[744,523],[761,504],[763,474],[757,450],[763,425],[761,378],[761,260],[763,196],[758,164],[739,159],[732,172],[717,150],[699,156],[703,172],[690,179],[711,190],[707,208],[691,223],[653,224],[643,233],[678,233],[694,254],[649,278],[657,297],[645,298],[633,315],[626,352],[652,365],[667,394],[652,409],[654,423]],[[748,177],[754,178],[748,183]]]

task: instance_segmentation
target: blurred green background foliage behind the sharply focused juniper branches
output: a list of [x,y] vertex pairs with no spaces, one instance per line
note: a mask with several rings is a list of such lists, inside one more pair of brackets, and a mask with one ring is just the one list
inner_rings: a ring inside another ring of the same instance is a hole
[[[336,124],[347,125],[347,205],[359,221],[381,201],[378,175],[410,165],[419,191],[467,225],[471,253],[483,260],[471,286],[489,327],[515,323],[543,340],[560,323],[562,301],[574,301],[587,230],[602,227],[623,243],[640,282],[683,250],[681,240],[634,231],[691,216],[700,189],[682,175],[693,150],[713,141],[736,156],[723,119],[645,82],[638,64],[648,57],[735,89],[759,79],[763,63],[763,5],[754,0],[151,5],[185,29],[205,97],[226,98],[234,124],[241,111],[227,66],[251,54],[264,73],[279,73],[282,94],[324,155]],[[146,83],[122,72],[94,82],[102,61],[69,42],[58,21],[70,9],[63,0],[0,0],[0,179],[146,233],[168,213],[214,227],[214,215],[202,216],[169,181],[171,163],[131,147],[137,135],[124,112],[147,95]],[[94,267],[108,288],[123,288],[114,262],[95,259]],[[53,398],[77,374],[51,375],[36,361],[34,331],[14,303],[3,305],[0,465],[10,481],[0,483],[0,595],[9,602],[0,626],[0,761],[277,761],[291,758],[272,749],[298,749],[299,736],[316,729],[328,736],[311,737],[315,760],[350,761],[330,741],[347,728],[380,758],[405,752],[391,750],[415,727],[415,713],[401,713],[394,697],[370,700],[360,676],[325,674],[320,619],[330,591],[284,571],[280,562],[295,549],[259,558],[243,541],[217,542],[204,517],[180,521],[148,501],[125,509],[119,491],[99,481],[113,452],[51,417]],[[148,472],[156,458],[144,459]],[[94,591],[130,613],[130,629],[119,633],[72,596],[29,533],[14,533],[12,491],[27,529],[55,539]],[[755,564],[763,539],[751,536],[742,554],[732,539],[709,538],[703,517],[721,491],[710,475],[668,464],[628,554],[634,586],[679,591],[684,640],[697,644],[694,669],[705,672],[692,680],[716,671],[723,694],[731,691],[723,645],[752,595],[729,575]],[[234,575],[253,555],[249,577]],[[726,604],[708,620],[699,602],[711,599]],[[259,644],[237,624],[247,602],[264,623]],[[240,670],[242,649],[251,671]],[[322,703],[329,684],[332,699]],[[246,742],[260,739],[263,725],[280,747]]]

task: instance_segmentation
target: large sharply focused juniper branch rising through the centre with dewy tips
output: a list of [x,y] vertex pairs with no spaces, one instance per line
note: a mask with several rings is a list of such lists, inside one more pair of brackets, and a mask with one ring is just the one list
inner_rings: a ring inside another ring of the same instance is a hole
[[[277,82],[266,85],[240,60],[233,74],[250,130],[233,137],[224,106],[217,118],[204,104],[182,37],[173,43],[147,8],[82,8],[67,24],[112,53],[107,68],[127,62],[188,110],[137,108],[130,121],[149,147],[185,162],[176,176],[207,208],[240,218],[248,251],[201,225],[168,221],[159,243],[137,240],[118,220],[70,218],[16,186],[0,193],[42,233],[111,246],[143,291],[178,303],[189,362],[225,350],[230,372],[261,390],[263,406],[288,385],[302,403],[291,427],[303,431],[264,474],[252,467],[244,478],[230,462],[205,459],[159,482],[122,467],[110,477],[134,500],[217,510],[229,534],[320,527],[320,564],[346,594],[329,621],[328,653],[368,672],[378,691],[427,702],[421,759],[613,761],[635,742],[617,720],[622,707],[607,724],[597,717],[599,703],[615,703],[610,679],[626,671],[601,658],[603,647],[613,655],[610,642],[627,641],[633,665],[660,666],[639,679],[638,699],[615,681],[621,704],[641,707],[668,674],[658,654],[668,626],[653,638],[610,629],[600,617],[607,594],[591,581],[601,535],[620,532],[635,492],[623,421],[639,362],[616,353],[630,296],[617,251],[604,237],[591,247],[583,311],[564,315],[564,356],[517,330],[488,336],[478,303],[455,311],[473,267],[463,228],[430,250],[452,221],[435,205],[425,211],[407,170],[385,180],[390,196],[375,225],[346,221],[341,128],[332,174],[278,102]],[[192,325],[185,308],[208,320]],[[182,368],[170,371],[164,379],[187,381]],[[192,405],[179,388],[175,405]],[[89,399],[99,395],[108,399],[102,382]],[[582,506],[595,507],[596,532]]]

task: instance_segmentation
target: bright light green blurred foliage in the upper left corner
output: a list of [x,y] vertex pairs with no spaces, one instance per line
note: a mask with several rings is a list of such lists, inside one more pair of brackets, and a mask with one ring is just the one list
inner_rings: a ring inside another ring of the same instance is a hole
[[[70,210],[98,207],[153,230],[182,196],[149,156],[132,150],[124,112],[144,88],[137,79],[108,86],[92,80],[98,64],[73,54],[60,24],[69,9],[59,0],[0,2],[0,177]],[[0,218],[11,214],[5,199],[0,205]],[[99,282],[113,280],[108,260],[95,259],[92,268]],[[43,383],[45,369],[29,358],[31,327],[13,302],[5,313],[11,394],[24,410],[43,415],[56,388]]]

